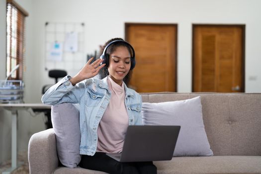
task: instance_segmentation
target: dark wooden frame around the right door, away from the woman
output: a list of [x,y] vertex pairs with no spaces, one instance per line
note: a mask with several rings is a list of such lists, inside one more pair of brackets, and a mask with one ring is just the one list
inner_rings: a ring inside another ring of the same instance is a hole
[[194,88],[194,78],[193,78],[193,72],[194,72],[194,36],[195,36],[195,26],[213,26],[213,27],[240,27],[242,28],[242,79],[241,79],[241,87],[242,92],[245,92],[245,40],[246,40],[246,24],[192,24],[192,85],[191,85],[191,91],[193,92]]

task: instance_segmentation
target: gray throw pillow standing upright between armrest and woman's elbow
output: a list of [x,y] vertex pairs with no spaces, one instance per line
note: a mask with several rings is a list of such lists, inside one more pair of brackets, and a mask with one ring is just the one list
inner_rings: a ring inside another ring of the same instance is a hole
[[51,110],[58,158],[68,168],[76,168],[81,161],[81,131],[77,107],[72,103],[61,103],[53,105]]

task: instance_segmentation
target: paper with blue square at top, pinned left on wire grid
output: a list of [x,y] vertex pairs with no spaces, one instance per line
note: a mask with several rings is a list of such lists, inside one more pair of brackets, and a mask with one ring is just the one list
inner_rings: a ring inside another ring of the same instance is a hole
[[62,61],[62,58],[63,58],[63,43],[62,42],[51,43],[51,48],[48,54],[48,60]]

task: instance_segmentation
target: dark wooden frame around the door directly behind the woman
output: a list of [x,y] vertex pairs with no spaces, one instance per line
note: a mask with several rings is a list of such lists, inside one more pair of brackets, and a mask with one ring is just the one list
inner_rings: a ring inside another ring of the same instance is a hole
[[172,23],[131,23],[131,22],[125,22],[125,40],[128,42],[129,41],[129,38],[128,38],[128,34],[127,34],[127,28],[130,26],[130,25],[163,25],[163,26],[175,26],[176,27],[176,33],[175,33],[175,49],[176,49],[176,53],[175,53],[175,58],[174,58],[174,61],[175,61],[175,91],[174,92],[177,92],[177,32],[178,32],[178,28],[177,28],[177,24],[172,24]]

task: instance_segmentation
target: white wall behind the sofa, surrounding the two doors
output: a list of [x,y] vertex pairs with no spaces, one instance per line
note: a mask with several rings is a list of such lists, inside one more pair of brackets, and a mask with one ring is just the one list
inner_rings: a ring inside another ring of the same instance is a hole
[[[178,24],[178,92],[191,91],[192,24],[246,24],[245,88],[246,92],[261,92],[260,0],[17,0],[17,2],[29,12],[26,30],[26,102],[40,102],[43,85],[53,83],[44,70],[44,24],[47,21],[85,22],[86,53],[93,53],[98,49],[98,45],[110,38],[124,38],[125,22]],[[2,32],[0,34],[4,36]],[[251,80],[253,77],[256,80]],[[20,150],[25,148],[31,133],[43,129],[41,116],[32,118],[25,115],[26,113],[19,126],[19,129],[23,129],[23,137],[25,136],[20,140],[20,144],[23,144],[19,146]]]

